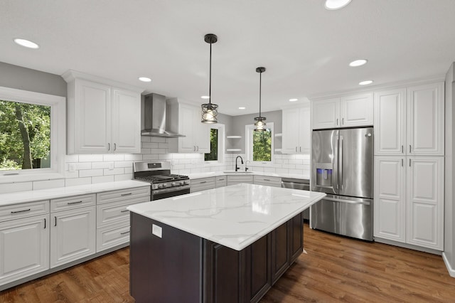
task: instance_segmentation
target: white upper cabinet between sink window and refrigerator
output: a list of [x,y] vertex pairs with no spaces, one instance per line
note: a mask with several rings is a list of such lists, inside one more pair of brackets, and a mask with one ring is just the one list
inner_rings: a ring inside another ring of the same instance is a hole
[[310,153],[310,108],[289,108],[282,111],[282,153]]

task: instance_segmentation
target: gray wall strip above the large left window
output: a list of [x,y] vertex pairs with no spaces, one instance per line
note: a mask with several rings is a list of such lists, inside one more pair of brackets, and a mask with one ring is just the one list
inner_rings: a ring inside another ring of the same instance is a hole
[[3,62],[0,62],[0,86],[66,97],[66,82],[60,75]]

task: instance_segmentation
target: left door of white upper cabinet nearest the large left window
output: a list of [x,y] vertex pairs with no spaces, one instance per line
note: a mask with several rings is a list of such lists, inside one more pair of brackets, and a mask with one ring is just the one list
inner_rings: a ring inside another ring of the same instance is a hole
[[75,153],[107,153],[112,150],[110,94],[107,85],[75,80]]

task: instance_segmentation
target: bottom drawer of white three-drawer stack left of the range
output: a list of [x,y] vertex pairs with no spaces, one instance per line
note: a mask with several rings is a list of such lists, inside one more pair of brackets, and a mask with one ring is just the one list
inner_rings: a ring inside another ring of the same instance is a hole
[[129,222],[97,229],[97,252],[129,242]]

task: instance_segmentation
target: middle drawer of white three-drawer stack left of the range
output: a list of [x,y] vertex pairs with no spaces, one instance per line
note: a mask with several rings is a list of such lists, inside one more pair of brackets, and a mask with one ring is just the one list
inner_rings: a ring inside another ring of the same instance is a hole
[[127,206],[135,203],[149,202],[150,197],[137,197],[125,201],[116,201],[97,206],[97,228],[119,222],[129,223]]

